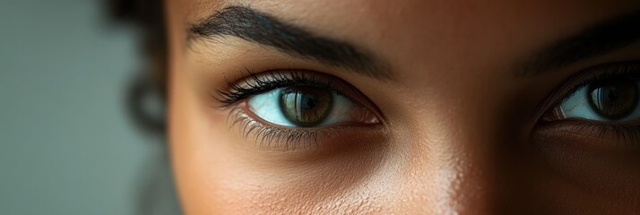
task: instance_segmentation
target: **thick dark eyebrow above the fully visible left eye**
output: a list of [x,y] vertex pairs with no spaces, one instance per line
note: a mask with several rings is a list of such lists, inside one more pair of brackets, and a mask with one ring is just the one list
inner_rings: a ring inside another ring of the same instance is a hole
[[323,64],[347,68],[374,78],[390,78],[386,64],[369,52],[337,39],[317,36],[245,6],[229,6],[197,22],[189,40],[233,36]]

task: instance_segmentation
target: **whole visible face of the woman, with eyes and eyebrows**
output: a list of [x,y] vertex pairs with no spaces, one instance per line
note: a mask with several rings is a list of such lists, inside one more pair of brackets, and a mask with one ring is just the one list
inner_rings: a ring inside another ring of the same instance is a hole
[[640,3],[166,3],[187,214],[640,210]]

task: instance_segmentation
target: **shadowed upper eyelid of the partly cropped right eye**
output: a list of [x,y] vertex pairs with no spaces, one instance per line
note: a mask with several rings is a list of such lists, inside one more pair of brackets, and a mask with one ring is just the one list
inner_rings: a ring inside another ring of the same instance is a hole
[[[636,73],[634,73],[636,72]],[[577,90],[591,82],[597,82],[619,75],[630,75],[640,78],[640,61],[614,62],[599,64],[583,70],[571,76],[566,82],[550,93],[550,96],[541,103],[535,112],[537,118],[544,116],[551,108],[557,107],[566,99],[569,99]]]

